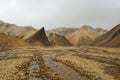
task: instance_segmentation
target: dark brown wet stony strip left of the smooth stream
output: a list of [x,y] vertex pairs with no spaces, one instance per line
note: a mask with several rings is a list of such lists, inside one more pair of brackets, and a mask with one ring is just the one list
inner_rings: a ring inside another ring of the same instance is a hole
[[25,62],[17,68],[19,71],[23,71],[25,76],[19,80],[62,80],[50,67],[45,65],[40,54],[35,54],[29,62]]

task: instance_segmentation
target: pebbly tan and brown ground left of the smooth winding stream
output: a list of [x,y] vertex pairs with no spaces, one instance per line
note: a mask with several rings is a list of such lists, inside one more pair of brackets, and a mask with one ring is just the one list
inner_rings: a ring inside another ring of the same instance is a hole
[[[36,55],[37,51],[38,49],[13,48],[12,51],[6,52],[16,57],[0,57],[0,80],[62,80],[44,64],[40,52]],[[39,56],[37,60],[35,60],[36,56]]]

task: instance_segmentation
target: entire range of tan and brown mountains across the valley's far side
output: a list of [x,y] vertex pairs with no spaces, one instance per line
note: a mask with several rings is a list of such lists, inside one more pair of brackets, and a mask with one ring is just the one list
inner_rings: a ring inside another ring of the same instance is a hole
[[[120,24],[112,30],[84,25],[45,31],[0,21],[0,46],[107,46],[120,47]],[[4,34],[3,34],[4,33]]]

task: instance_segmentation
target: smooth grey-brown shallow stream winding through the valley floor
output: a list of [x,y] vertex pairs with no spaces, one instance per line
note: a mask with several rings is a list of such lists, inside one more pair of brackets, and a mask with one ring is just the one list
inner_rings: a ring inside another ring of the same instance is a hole
[[[67,53],[69,53],[69,51],[67,51]],[[76,72],[69,66],[52,60],[53,58],[60,54],[61,54],[60,52],[59,53],[51,52],[50,54],[43,55],[45,64],[51,67],[51,69],[53,69],[58,74],[58,76],[63,80],[89,80],[85,76],[80,76],[78,72]]]

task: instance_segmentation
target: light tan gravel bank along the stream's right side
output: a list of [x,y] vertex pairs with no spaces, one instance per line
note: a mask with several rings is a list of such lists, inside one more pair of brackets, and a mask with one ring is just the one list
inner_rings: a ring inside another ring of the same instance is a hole
[[[114,80],[113,76],[104,73],[103,63],[88,60],[72,54],[66,54],[56,57],[57,61],[67,64],[93,80]],[[104,64],[105,65],[105,64]],[[107,65],[107,64],[106,64]]]

